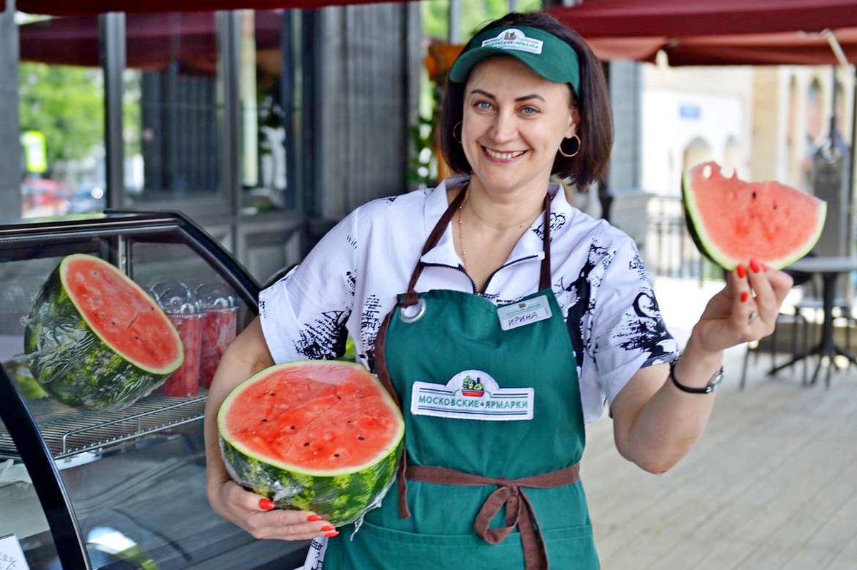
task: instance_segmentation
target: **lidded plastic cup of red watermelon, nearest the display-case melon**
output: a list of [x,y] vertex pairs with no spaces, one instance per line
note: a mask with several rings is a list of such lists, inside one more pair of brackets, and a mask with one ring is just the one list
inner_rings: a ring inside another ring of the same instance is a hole
[[184,363],[164,384],[167,396],[195,396],[200,391],[202,311],[187,285],[159,282],[149,287],[182,339]]

